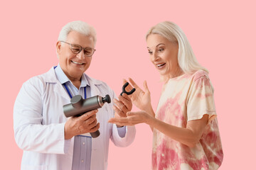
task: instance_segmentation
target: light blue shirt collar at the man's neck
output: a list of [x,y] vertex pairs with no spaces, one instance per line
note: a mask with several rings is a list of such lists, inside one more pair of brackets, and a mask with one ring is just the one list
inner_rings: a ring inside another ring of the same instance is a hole
[[[66,82],[70,81],[70,79],[68,79],[68,77],[63,72],[63,69],[61,69],[60,64],[58,64],[58,66],[55,67],[54,70],[55,70],[56,77],[57,77],[58,81],[60,81],[61,84],[65,84]],[[70,83],[71,83],[71,81],[70,81]],[[87,85],[89,86],[88,81],[85,77],[85,74],[82,74],[80,87],[85,87]]]

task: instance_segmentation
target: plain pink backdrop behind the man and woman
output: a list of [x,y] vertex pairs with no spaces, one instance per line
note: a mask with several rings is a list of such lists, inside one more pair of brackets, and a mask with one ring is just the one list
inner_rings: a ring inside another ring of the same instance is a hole
[[[58,33],[75,20],[97,30],[97,51],[87,74],[107,82],[116,94],[123,78],[132,77],[140,86],[146,80],[154,109],[161,83],[149,62],[144,35],[161,21],[181,26],[215,88],[225,154],[220,169],[254,169],[254,1],[1,1],[0,14],[0,169],[20,168],[22,151],[14,141],[13,106],[21,85],[58,64]],[[131,146],[111,143],[109,169],[150,169],[151,130],[147,125],[136,128]]]

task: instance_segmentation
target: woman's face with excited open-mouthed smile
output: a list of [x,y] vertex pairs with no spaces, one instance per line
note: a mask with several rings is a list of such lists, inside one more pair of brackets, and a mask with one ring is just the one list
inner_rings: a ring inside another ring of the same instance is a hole
[[150,60],[162,76],[175,76],[178,70],[178,44],[159,34],[150,34],[146,39]]

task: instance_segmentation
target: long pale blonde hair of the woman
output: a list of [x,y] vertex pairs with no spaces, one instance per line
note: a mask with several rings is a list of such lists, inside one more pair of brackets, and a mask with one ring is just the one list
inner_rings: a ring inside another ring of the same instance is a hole
[[173,43],[178,43],[178,65],[183,72],[193,73],[200,69],[208,72],[198,63],[186,35],[175,23],[170,21],[158,23],[149,29],[146,33],[146,39],[150,34],[159,34]]

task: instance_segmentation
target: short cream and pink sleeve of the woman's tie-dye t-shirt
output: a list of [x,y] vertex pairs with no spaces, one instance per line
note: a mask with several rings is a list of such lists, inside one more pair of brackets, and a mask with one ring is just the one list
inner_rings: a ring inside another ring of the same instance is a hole
[[216,117],[215,103],[213,97],[213,86],[210,79],[203,75],[193,79],[187,99],[187,118],[198,120],[208,114],[208,123]]

